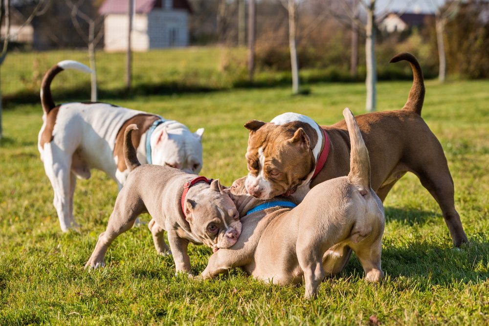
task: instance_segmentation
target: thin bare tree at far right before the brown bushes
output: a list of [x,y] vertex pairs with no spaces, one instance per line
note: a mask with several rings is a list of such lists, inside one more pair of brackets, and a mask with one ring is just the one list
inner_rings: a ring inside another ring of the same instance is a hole
[[[438,45],[438,81],[440,83],[445,82],[446,77],[446,55],[445,55],[445,25],[449,19],[452,19],[457,15],[460,0],[451,0],[449,3],[443,5],[439,4],[437,0],[429,0],[435,9],[435,27],[436,27],[436,41]],[[445,1],[442,1],[445,2]]]

